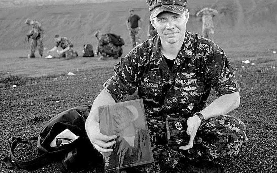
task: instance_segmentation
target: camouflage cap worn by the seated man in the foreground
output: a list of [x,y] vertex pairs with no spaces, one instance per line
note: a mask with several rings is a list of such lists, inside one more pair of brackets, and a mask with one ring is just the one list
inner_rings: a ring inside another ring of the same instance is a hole
[[173,12],[182,14],[185,11],[188,0],[146,0],[153,17],[161,12]]

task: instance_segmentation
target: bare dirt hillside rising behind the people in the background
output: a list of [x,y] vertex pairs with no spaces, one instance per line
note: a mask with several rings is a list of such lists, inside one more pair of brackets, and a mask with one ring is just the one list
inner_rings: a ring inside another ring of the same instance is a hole
[[[93,34],[96,30],[120,34],[125,42],[130,44],[125,24],[127,10],[130,7],[135,8],[135,12],[145,20],[141,37],[142,40],[146,39],[149,9],[145,0],[83,3],[96,1],[70,0],[66,5],[61,5],[54,0],[48,0],[44,4],[41,3],[42,0],[34,0],[33,5],[30,0],[26,3],[20,0],[13,1],[18,3],[9,3],[9,5],[7,3],[10,1],[0,1],[1,6],[5,7],[0,8],[0,50],[29,49],[29,44],[24,44],[25,34],[31,29],[24,23],[26,18],[43,24],[47,48],[54,45],[55,34],[68,37],[74,42],[75,47],[80,48],[85,43],[95,45],[96,39]],[[73,2],[75,3],[72,4]],[[25,4],[28,6],[24,6]],[[188,1],[190,20],[187,28],[189,31],[201,33],[201,22],[195,14],[205,6],[219,10],[219,15],[214,18],[215,42],[221,47],[227,50],[230,48],[232,51],[241,47],[251,51],[277,47],[275,43],[277,40],[276,0]]]

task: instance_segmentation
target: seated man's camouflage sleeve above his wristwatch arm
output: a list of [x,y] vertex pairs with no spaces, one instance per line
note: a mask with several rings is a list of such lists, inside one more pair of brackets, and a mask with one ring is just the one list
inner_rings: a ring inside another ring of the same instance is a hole
[[234,69],[224,53],[214,53],[210,56],[205,68],[205,78],[218,97],[240,91]]

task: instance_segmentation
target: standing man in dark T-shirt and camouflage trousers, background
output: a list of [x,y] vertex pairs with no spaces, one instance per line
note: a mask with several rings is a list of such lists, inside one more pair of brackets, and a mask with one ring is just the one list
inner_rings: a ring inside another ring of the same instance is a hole
[[131,38],[131,43],[133,47],[141,43],[139,36],[141,28],[138,26],[138,21],[140,21],[141,23],[143,22],[143,19],[136,15],[134,11],[135,9],[129,9],[130,16],[126,21],[127,29],[129,30],[129,36]]

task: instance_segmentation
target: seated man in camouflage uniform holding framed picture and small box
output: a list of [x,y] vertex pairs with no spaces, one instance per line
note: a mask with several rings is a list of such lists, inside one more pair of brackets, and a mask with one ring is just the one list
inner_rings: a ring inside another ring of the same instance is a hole
[[[221,172],[213,160],[238,154],[248,140],[244,123],[228,114],[240,104],[234,69],[218,45],[186,31],[186,2],[147,0],[158,35],[134,48],[114,66],[115,73],[93,101],[85,124],[96,150],[112,152],[110,147],[117,136],[100,133],[97,108],[120,101],[138,89],[155,160],[135,167],[144,173]],[[218,98],[206,105],[212,88]],[[186,119],[187,145],[167,145],[168,117]]]

